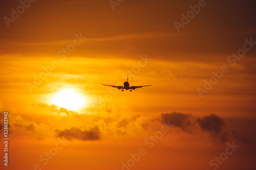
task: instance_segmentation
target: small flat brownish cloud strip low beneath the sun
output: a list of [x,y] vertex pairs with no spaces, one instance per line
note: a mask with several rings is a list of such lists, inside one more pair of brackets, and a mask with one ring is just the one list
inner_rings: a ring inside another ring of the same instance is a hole
[[66,137],[67,139],[79,139],[79,140],[99,140],[100,132],[98,127],[91,128],[90,130],[82,130],[78,127],[72,127],[71,129],[59,130],[55,129],[54,132],[58,137]]

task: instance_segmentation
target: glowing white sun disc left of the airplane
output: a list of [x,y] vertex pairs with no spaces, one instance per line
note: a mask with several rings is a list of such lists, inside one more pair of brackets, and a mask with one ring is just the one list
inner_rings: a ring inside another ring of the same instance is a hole
[[67,88],[56,93],[51,103],[74,111],[82,108],[86,104],[86,100],[73,88]]

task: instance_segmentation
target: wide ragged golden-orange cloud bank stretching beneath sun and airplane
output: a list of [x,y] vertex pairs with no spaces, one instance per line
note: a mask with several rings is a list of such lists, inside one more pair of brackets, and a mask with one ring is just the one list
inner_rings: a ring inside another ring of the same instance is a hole
[[[125,112],[120,112],[120,109],[112,107],[102,109],[105,111],[102,114],[92,115],[87,112],[79,114],[55,105],[32,103],[29,106],[29,112],[37,113],[37,116],[32,118],[34,122],[43,122],[47,125],[51,135],[65,136],[70,139],[104,140],[123,136],[141,137],[145,133],[142,130],[142,124],[148,123],[146,116],[124,114]],[[30,117],[30,114],[27,117]],[[19,125],[18,122],[16,124]],[[32,128],[29,125],[28,122],[20,129]],[[148,131],[151,129],[146,132]]]

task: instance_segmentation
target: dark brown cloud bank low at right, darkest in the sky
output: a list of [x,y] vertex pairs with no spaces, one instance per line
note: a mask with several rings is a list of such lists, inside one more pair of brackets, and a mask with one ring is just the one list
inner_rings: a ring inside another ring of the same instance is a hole
[[249,143],[247,134],[242,131],[232,131],[228,129],[227,122],[220,116],[210,113],[203,117],[195,117],[191,113],[162,113],[161,118],[164,122],[173,124],[183,132],[198,133],[207,132],[214,142],[225,142],[227,140],[236,139],[244,143]]

